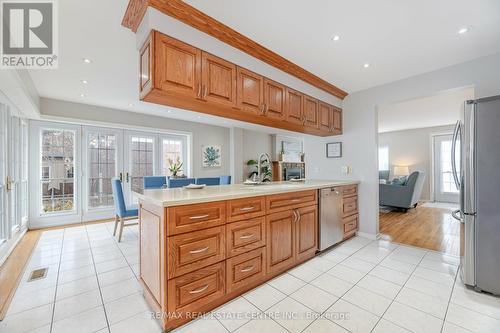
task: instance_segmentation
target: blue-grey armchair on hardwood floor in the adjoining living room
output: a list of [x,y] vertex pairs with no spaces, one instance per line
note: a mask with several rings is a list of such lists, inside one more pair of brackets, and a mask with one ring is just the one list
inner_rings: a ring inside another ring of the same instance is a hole
[[425,173],[415,171],[403,185],[379,184],[379,204],[407,212],[417,206],[424,187]]

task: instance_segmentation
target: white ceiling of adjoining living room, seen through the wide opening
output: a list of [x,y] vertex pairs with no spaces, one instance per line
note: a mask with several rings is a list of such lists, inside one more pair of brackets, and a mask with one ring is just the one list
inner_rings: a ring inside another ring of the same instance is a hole
[[454,89],[433,96],[378,107],[378,131],[392,132],[454,124],[474,88]]

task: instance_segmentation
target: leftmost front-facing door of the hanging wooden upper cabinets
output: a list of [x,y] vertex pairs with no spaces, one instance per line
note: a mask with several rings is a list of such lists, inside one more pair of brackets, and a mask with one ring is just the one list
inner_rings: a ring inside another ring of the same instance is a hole
[[201,87],[201,51],[157,34],[155,52],[155,86],[163,91],[197,98]]

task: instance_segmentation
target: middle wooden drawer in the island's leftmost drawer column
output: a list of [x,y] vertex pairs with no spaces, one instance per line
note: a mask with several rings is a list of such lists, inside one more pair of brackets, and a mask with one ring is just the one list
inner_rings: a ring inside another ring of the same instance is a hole
[[169,237],[168,277],[173,278],[225,259],[224,227]]

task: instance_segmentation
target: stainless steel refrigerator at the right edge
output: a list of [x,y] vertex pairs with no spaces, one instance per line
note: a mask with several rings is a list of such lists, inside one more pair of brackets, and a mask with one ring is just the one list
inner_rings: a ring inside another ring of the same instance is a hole
[[452,167],[460,189],[453,217],[462,223],[462,280],[500,294],[500,96],[465,102],[453,135]]

